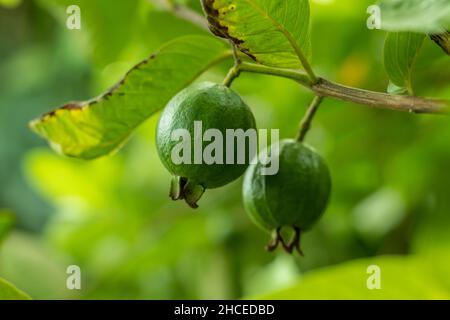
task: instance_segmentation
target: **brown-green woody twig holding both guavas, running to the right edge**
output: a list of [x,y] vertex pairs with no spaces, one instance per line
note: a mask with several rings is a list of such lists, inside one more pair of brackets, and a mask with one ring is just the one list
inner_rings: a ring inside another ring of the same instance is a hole
[[317,96],[332,97],[369,107],[413,113],[448,114],[450,112],[449,100],[399,96],[369,91],[347,87],[323,78],[319,78],[317,83],[312,83],[308,75],[299,70],[273,68],[248,62],[242,62],[234,66],[234,68],[238,69],[234,71],[235,74],[251,72],[292,79],[313,91]]

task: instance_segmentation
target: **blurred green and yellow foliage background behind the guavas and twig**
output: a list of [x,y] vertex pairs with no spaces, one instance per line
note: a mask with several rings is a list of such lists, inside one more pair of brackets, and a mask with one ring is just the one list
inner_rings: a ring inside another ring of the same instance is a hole
[[[80,5],[82,30],[65,27],[69,4]],[[370,4],[312,1],[313,66],[385,91],[386,33],[366,28]],[[328,161],[333,195],[304,235],[305,258],[264,251],[268,235],[245,215],[241,181],[208,190],[197,211],[169,201],[156,117],[118,154],[92,162],[54,154],[27,128],[57,105],[99,94],[164,42],[204,33],[148,0],[0,1],[0,277],[35,299],[450,298],[447,117],[326,100],[308,143]],[[202,79],[221,81],[230,64]],[[427,39],[416,93],[449,98],[449,71],[449,57]],[[259,127],[282,137],[295,135],[311,99],[267,76],[244,74],[234,88]],[[66,289],[72,264],[81,291]],[[365,287],[370,264],[382,270],[377,292]]]

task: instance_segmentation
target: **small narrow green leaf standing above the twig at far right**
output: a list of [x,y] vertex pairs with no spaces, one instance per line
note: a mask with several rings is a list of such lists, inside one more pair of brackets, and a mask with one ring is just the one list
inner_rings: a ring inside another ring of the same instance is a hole
[[[384,44],[384,66],[392,84],[412,94],[411,72],[425,35],[411,32],[389,33]],[[396,91],[402,91],[397,89]]]

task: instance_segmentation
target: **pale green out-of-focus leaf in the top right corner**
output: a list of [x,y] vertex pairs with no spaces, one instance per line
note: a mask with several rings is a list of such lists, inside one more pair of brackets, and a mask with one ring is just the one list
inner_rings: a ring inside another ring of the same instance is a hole
[[448,0],[381,0],[381,28],[439,33],[450,26]]

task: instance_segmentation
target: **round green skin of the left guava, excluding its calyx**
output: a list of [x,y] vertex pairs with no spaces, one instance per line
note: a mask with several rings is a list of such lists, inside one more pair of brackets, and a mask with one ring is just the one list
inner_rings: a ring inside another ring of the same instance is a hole
[[[212,189],[224,186],[239,178],[247,169],[246,164],[174,164],[171,152],[179,141],[172,141],[176,129],[187,129],[194,139],[194,121],[202,121],[203,132],[218,129],[224,140],[226,129],[256,130],[256,121],[245,102],[230,88],[212,83],[194,84],[177,94],[161,114],[156,133],[158,154],[164,166],[174,175],[187,179],[191,184]],[[203,142],[203,150],[210,142]],[[193,145],[192,144],[192,159]],[[236,150],[235,150],[236,152]],[[236,154],[236,153],[235,153]]]

